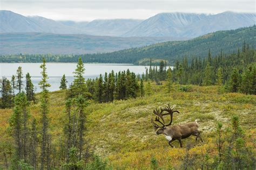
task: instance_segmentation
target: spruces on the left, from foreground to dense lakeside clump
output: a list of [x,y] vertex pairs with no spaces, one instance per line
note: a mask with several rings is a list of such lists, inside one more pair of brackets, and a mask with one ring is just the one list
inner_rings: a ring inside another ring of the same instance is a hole
[[[100,75],[99,78],[85,80],[83,77],[84,64],[79,58],[74,72],[75,79],[70,87],[67,89],[65,75],[60,82],[60,89],[66,89],[66,114],[63,118],[63,125],[59,126],[63,129],[59,141],[53,144],[50,133],[52,125],[48,115],[50,112],[48,91],[50,84],[44,58],[41,69],[42,80],[39,82],[39,86],[42,91],[39,93],[38,101],[35,100],[29,73],[26,74],[26,87],[25,92],[23,91],[21,67],[18,67],[17,75],[12,76],[12,83],[6,78],[2,80],[2,95],[6,91],[8,93],[2,96],[1,106],[3,108],[13,107],[8,133],[14,139],[14,144],[6,147],[9,149],[3,151],[6,168],[104,169],[106,162],[93,154],[88,143],[89,139],[86,139],[86,107],[92,100],[101,103],[143,96],[143,80],[129,70],[119,73],[112,71],[109,74],[105,73],[104,78]],[[6,84],[9,86],[7,90]],[[12,84],[14,86],[11,86]],[[6,97],[8,100],[5,100]],[[30,105],[35,102],[40,105],[39,119],[32,117],[30,113]]]

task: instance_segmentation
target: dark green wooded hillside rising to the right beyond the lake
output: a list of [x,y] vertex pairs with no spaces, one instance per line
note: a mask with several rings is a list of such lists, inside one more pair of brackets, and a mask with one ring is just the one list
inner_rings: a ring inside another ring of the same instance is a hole
[[211,49],[212,56],[218,55],[221,49],[224,53],[237,52],[244,42],[250,45],[256,43],[255,32],[256,26],[217,31],[191,40],[158,43],[112,53],[83,55],[83,59],[86,62],[138,64],[145,58],[157,58],[174,63],[175,60],[184,56],[187,56],[188,59],[192,56],[204,58],[208,55],[209,49]]

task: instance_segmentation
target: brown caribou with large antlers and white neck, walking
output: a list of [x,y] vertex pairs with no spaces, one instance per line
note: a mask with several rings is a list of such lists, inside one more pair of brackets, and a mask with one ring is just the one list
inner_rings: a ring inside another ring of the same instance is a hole
[[[167,113],[163,113],[166,111]],[[192,121],[190,123],[182,124],[182,125],[174,125],[170,126],[172,124],[172,118],[173,118],[173,113],[178,111],[173,111],[173,109],[168,105],[167,107],[160,108],[160,111],[154,110],[153,113],[157,115],[156,119],[153,121],[151,119],[151,122],[154,126],[154,128],[157,130],[156,134],[164,134],[165,138],[169,141],[168,144],[172,146],[172,142],[174,140],[178,140],[180,147],[183,147],[181,139],[185,139],[190,137],[191,135],[196,136],[196,140],[200,139],[201,142],[203,142],[203,139],[200,137],[200,131],[198,130],[198,123],[197,120]],[[171,120],[169,124],[165,124],[164,115],[170,115]],[[162,121],[160,121],[160,119]],[[160,123],[161,125],[158,125],[156,122]]]

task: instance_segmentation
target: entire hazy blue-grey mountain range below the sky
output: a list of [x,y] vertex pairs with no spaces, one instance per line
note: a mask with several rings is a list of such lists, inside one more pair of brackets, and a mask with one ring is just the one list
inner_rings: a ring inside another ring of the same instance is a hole
[[159,13],[148,19],[96,19],[91,22],[53,21],[32,16],[25,17],[12,11],[0,11],[0,33],[43,32],[86,34],[114,37],[172,37],[194,38],[206,33],[231,30],[255,24],[255,13],[223,12]]

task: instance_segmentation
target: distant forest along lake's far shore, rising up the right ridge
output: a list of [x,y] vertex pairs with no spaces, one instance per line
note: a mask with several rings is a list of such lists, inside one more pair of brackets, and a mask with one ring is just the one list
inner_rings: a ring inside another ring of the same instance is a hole
[[190,60],[193,56],[207,57],[207,51],[211,47],[212,55],[217,55],[220,49],[225,53],[236,51],[244,41],[254,47],[256,26],[240,28],[229,31],[217,31],[205,36],[186,41],[157,43],[145,47],[131,48],[109,53],[81,54],[81,55],[2,55],[0,62],[27,62],[38,63],[45,58],[48,62],[77,62],[81,56],[86,63],[133,63],[147,58],[165,59],[170,64],[187,56]]

